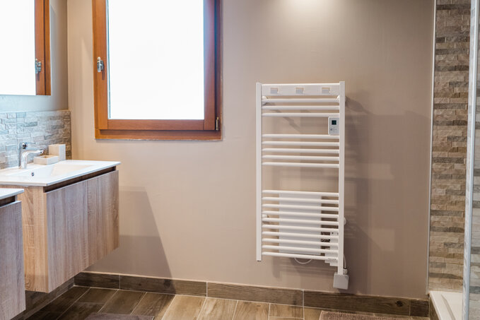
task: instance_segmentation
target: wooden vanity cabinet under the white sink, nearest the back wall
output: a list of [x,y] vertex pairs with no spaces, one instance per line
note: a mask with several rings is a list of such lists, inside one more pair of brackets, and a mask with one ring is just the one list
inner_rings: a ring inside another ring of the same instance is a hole
[[51,292],[119,246],[115,167],[24,189],[26,290]]

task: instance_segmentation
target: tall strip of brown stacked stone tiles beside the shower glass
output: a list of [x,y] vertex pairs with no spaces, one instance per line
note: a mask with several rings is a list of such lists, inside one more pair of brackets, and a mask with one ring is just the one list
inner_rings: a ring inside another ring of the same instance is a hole
[[435,32],[430,289],[461,290],[470,1],[438,0]]

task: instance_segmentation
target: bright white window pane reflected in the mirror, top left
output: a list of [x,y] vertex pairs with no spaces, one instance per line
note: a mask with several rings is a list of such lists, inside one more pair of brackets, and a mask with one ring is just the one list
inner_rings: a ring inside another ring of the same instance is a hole
[[35,1],[0,0],[0,95],[35,95]]

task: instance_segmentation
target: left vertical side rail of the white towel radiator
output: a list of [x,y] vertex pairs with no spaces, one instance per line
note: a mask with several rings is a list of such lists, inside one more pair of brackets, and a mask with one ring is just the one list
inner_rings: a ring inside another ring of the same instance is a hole
[[262,83],[257,83],[256,108],[257,261],[262,261]]

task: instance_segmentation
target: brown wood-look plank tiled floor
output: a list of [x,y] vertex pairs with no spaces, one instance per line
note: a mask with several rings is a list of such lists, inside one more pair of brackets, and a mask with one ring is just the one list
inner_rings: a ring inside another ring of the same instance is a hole
[[[321,312],[322,309],[285,304],[74,287],[28,319],[318,320]],[[127,319],[121,314],[131,316]],[[427,318],[399,316],[399,319]]]

